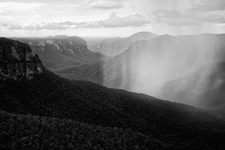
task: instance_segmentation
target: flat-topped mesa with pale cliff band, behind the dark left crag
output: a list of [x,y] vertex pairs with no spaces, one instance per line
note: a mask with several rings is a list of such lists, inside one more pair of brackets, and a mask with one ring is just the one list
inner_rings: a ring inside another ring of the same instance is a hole
[[106,58],[90,51],[86,41],[76,36],[15,39],[29,44],[33,53],[37,53],[44,65],[52,70],[94,63]]

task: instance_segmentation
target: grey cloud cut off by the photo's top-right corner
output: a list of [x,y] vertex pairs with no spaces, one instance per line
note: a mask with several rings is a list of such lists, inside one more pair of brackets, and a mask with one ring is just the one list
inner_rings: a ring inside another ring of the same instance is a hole
[[225,10],[225,0],[205,0],[191,9],[192,11]]

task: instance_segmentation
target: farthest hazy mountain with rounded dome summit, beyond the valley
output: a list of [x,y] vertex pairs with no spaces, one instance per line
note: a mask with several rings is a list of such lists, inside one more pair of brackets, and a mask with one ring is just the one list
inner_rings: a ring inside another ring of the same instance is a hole
[[90,50],[99,52],[107,56],[114,57],[130,47],[133,42],[140,40],[150,40],[157,35],[150,32],[139,32],[127,38],[105,39],[90,47]]

